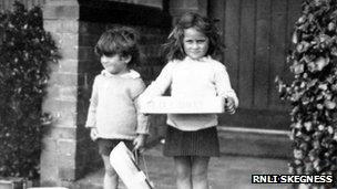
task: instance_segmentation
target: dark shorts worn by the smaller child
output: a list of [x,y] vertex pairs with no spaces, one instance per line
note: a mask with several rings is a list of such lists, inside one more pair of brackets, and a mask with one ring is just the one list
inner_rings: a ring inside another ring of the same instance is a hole
[[129,139],[106,139],[106,138],[99,138],[96,140],[98,145],[99,145],[99,153],[100,155],[104,155],[104,156],[110,156],[110,153],[112,151],[112,149],[118,146],[118,144],[120,141],[124,141],[126,147],[130,150],[133,150],[133,140],[129,140]]

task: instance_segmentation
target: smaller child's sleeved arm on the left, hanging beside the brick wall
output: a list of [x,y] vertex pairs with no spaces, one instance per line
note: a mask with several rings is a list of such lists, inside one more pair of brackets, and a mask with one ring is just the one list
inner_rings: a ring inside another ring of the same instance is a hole
[[91,127],[91,128],[95,127],[96,124],[96,107],[99,103],[99,92],[96,85],[98,85],[98,81],[95,78],[92,86],[90,106],[89,106],[88,117],[85,123],[85,127]]

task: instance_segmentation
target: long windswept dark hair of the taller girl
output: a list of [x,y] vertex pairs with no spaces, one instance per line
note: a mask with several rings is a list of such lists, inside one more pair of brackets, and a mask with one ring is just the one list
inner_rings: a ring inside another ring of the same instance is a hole
[[181,17],[170,33],[167,43],[163,44],[163,53],[167,61],[183,60],[186,56],[183,48],[183,39],[184,30],[188,28],[195,28],[208,38],[210,44],[206,55],[214,57],[221,55],[225,45],[223,44],[218,29],[215,27],[215,21],[195,12],[187,12]]

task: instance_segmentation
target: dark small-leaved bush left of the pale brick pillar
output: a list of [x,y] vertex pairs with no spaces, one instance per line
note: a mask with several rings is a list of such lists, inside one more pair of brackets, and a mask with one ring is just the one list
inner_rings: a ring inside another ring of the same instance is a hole
[[0,176],[38,176],[41,112],[55,44],[43,30],[39,7],[0,13]]

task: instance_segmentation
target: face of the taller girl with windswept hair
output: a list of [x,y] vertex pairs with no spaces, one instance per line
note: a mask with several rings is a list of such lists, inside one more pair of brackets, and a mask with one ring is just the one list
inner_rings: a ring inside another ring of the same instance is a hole
[[198,60],[205,56],[208,51],[208,38],[195,28],[184,30],[184,51],[191,59]]

